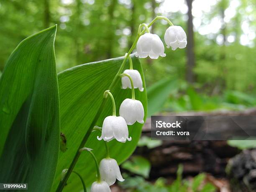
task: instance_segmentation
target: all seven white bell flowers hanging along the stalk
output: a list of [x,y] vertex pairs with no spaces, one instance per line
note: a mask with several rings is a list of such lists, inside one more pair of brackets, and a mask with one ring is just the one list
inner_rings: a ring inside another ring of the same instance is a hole
[[[149,31],[149,30],[148,30]],[[172,50],[179,48],[185,48],[187,45],[187,36],[182,27],[170,26],[164,35],[164,41],[167,48],[170,46]],[[158,59],[159,56],[166,56],[164,54],[164,44],[156,34],[145,33],[138,38],[137,53],[136,56],[140,58],[146,58],[149,56],[151,59]],[[131,58],[129,58],[131,59]],[[130,88],[133,90],[132,99],[125,99],[121,105],[119,114],[117,117],[115,112],[112,116],[108,116],[104,119],[102,125],[102,135],[97,137],[99,140],[111,141],[116,139],[120,142],[131,141],[131,137],[128,136],[128,126],[136,123],[144,123],[144,108],[139,100],[135,100],[134,89],[138,88],[143,92],[143,83],[141,74],[132,68],[130,60],[130,69],[126,69],[123,72],[121,78],[122,88]],[[108,92],[111,94],[110,92]],[[110,95],[112,96],[112,95]],[[113,96],[112,96],[113,99]],[[113,107],[115,102],[113,101]],[[114,110],[113,110],[114,111]],[[123,182],[124,179],[120,173],[120,169],[115,159],[105,158],[100,161],[100,175],[101,181],[94,182],[91,187],[91,192],[110,192],[110,185],[114,184],[116,179]]]

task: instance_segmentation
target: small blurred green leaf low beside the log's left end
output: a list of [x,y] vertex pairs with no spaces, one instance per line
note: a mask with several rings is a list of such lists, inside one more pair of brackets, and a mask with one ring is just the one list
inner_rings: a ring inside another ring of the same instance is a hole
[[132,173],[139,174],[145,178],[148,178],[151,165],[147,159],[141,156],[133,156],[131,160],[125,161],[122,164],[122,168],[127,169]]

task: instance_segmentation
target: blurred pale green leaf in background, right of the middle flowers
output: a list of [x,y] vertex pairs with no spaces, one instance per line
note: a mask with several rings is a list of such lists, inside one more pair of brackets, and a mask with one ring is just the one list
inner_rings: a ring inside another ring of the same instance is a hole
[[166,78],[148,87],[148,117],[160,112],[169,95],[177,90],[177,80]]

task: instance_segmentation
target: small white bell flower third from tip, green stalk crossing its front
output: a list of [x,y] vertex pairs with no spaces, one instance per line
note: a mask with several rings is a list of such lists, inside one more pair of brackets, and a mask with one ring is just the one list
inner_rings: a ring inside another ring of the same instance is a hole
[[[134,88],[138,88],[140,91],[143,91],[143,84],[141,79],[141,74],[134,69],[126,69],[123,73],[129,74],[131,78],[133,79],[133,86]],[[128,77],[122,77],[122,88],[127,89],[129,87],[131,89],[131,81]]]

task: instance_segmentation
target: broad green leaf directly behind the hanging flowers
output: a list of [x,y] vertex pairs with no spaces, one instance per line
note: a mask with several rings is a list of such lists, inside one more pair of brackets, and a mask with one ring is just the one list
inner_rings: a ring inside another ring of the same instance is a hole
[[[137,69],[143,78],[143,87],[146,88],[143,71],[140,62],[137,58],[132,56],[134,69]],[[103,99],[103,93],[108,90],[115,74],[123,61],[123,57],[116,59],[108,59],[105,61],[98,61],[89,64],[79,65],[73,67],[58,75],[59,78],[59,93],[60,93],[60,108],[61,108],[61,133],[66,136],[67,150],[60,152],[59,162],[56,172],[56,178],[54,180],[54,187],[52,191],[55,191],[59,181],[61,171],[68,169],[72,159],[79,147],[82,138],[89,129],[98,108],[100,107]],[[128,68],[128,62],[125,65],[125,69]],[[131,89],[121,89],[120,78],[115,83],[113,93],[116,103],[117,115],[121,102],[125,98],[131,98]],[[147,111],[147,96],[146,89],[140,92],[135,90],[136,99],[143,103],[145,110]],[[112,115],[112,103],[108,97],[108,102],[102,110],[102,114],[97,121],[97,125],[102,127],[102,122],[105,117]],[[120,143],[115,140],[110,141],[110,157],[116,159],[120,164],[127,159],[135,150],[138,140],[141,135],[142,124],[136,122],[134,125],[128,125],[129,136],[132,137],[132,141],[126,143]],[[93,152],[98,161],[105,157],[104,141],[98,141],[98,132],[93,132],[89,137],[86,147],[93,148]],[[86,183],[87,187],[96,180],[96,170],[92,157],[87,151],[83,151],[79,160],[74,167],[74,171],[78,172]],[[67,182],[67,186],[63,191],[79,191],[82,189],[81,182],[71,174]]]

